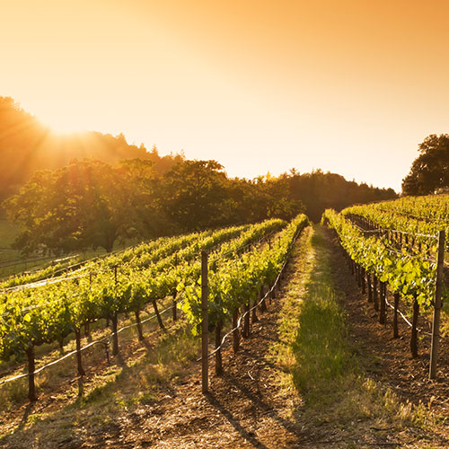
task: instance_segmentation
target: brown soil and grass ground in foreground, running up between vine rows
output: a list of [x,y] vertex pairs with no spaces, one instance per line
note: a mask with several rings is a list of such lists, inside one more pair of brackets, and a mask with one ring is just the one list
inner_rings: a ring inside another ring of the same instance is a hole
[[22,406],[4,410],[0,447],[447,447],[445,399],[432,399],[445,379],[420,382],[424,358],[404,361],[403,341],[390,340],[363,301],[331,233],[308,227],[250,338],[237,354],[226,343],[222,376],[211,361],[209,394],[185,321],[168,319],[168,332],[150,322],[144,341],[120,334],[110,364],[102,348],[85,356],[81,398],[73,360],[40,374],[36,403],[11,389],[4,407]]

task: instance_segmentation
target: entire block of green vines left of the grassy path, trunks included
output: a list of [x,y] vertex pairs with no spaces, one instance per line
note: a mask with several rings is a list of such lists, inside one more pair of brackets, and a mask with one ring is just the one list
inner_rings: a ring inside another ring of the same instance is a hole
[[[305,223],[304,216],[302,220]],[[36,346],[75,334],[77,372],[82,376],[83,348],[80,341],[83,327],[88,330],[90,323],[106,319],[111,328],[107,343],[111,341],[112,353],[118,354],[119,314],[134,313],[139,339],[143,339],[141,311],[146,304],[152,304],[163,328],[157,304],[168,296],[173,301],[173,319],[176,318],[177,307],[181,308],[195,330],[198,321],[195,289],[201,274],[199,251],[207,251],[211,258],[210,272],[214,279],[211,291],[215,292],[210,302],[211,321],[223,323],[231,305],[233,310],[236,307],[225,299],[230,294],[225,279],[231,279],[231,273],[238,268],[241,288],[245,288],[245,282],[254,284],[249,290],[251,295],[256,286],[259,288],[258,276],[263,275],[262,281],[269,282],[278,269],[286,239],[291,239],[292,224],[286,225],[283,220],[273,219],[258,225],[159,239],[86,264],[66,277],[43,279],[20,288],[8,286],[0,293],[0,358],[16,357],[20,360],[26,355],[29,399],[35,401]],[[282,229],[285,231],[281,232]],[[275,233],[276,240],[273,238]],[[268,257],[269,253],[277,256]],[[245,276],[242,267],[246,267],[246,272],[251,275]],[[233,287],[238,282],[234,279]],[[244,301],[241,292],[235,290],[234,294],[239,295],[239,301]]]

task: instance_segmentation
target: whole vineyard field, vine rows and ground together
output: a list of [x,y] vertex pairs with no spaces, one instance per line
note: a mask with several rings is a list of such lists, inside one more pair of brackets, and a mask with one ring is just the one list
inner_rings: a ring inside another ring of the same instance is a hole
[[[29,372],[67,357],[32,376],[34,390],[26,375],[0,385],[0,446],[447,447],[445,308],[437,375],[428,380],[436,245],[416,227],[414,238],[401,239],[393,214],[387,233],[372,208],[327,211],[326,225],[298,217],[150,243],[94,261],[91,276],[38,287],[45,295],[23,293],[29,289],[15,282],[3,315],[22,304],[21,321],[11,322],[28,337],[11,352],[4,330],[3,378],[26,369],[30,341]],[[215,352],[207,394],[198,364],[201,249],[209,253],[208,352]],[[52,301],[69,297],[66,282],[72,291],[103,293],[55,308]],[[396,293],[400,307],[390,311]],[[48,295],[49,306],[39,299],[48,303]],[[46,307],[57,319],[48,321]],[[86,348],[80,365],[80,348],[96,341],[105,343]]]

